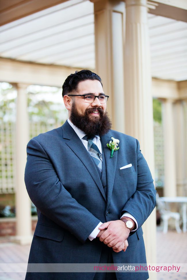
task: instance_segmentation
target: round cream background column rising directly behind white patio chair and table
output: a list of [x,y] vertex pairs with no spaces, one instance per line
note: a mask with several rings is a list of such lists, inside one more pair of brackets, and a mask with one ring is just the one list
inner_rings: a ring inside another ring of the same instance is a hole
[[176,157],[173,100],[163,100],[164,196],[176,196]]

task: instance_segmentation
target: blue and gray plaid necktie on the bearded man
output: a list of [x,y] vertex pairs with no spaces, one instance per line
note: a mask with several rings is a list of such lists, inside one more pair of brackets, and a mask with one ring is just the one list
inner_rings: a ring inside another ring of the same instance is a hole
[[102,173],[102,154],[98,149],[98,146],[92,142],[95,136],[87,136],[85,135],[83,139],[88,141],[88,152],[93,158],[94,162],[96,163],[97,167],[99,168],[100,172]]

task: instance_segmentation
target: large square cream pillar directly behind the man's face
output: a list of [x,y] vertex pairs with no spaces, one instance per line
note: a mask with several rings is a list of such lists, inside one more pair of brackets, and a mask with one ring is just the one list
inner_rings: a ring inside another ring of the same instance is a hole
[[94,1],[96,73],[109,95],[107,111],[113,129],[125,131],[124,113],[124,16],[125,3],[118,0]]

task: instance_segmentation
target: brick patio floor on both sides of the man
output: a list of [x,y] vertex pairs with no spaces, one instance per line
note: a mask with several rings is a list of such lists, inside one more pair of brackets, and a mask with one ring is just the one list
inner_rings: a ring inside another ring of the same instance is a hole
[[[157,264],[187,264],[187,233],[168,231],[162,233],[157,229]],[[27,263],[30,245],[21,246],[11,242],[11,237],[0,238],[0,263]],[[24,268],[22,269],[24,271]],[[3,270],[3,269],[2,269]],[[0,280],[24,280],[25,272],[0,271]],[[157,280],[187,280],[187,271],[184,273],[157,273]],[[39,279],[38,279],[39,280]],[[63,280],[63,279],[62,279]],[[76,279],[75,279],[76,280]],[[125,279],[128,280],[128,279]],[[135,279],[136,280],[136,279]],[[150,273],[151,280],[151,273]]]

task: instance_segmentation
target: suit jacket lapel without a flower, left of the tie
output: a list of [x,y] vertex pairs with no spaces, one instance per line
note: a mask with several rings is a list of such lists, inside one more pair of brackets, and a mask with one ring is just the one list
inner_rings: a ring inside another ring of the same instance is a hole
[[106,195],[104,193],[104,189],[101,183],[101,179],[99,177],[98,171],[96,169],[95,164],[93,163],[89,153],[85,149],[83,143],[80,138],[77,136],[73,128],[66,121],[62,126],[63,130],[63,138],[67,139],[66,145],[75,153],[75,155],[82,161],[85,165],[86,169],[90,173],[91,177],[95,181],[96,185],[100,189],[104,199],[106,200]]

